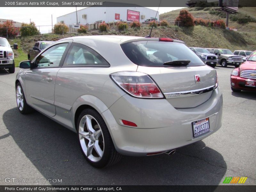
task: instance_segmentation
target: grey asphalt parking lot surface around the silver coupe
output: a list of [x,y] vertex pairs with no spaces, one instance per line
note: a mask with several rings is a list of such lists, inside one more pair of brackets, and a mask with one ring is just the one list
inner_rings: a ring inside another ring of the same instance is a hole
[[[230,89],[234,67],[217,66],[223,92],[222,127],[206,139],[165,154],[124,156],[96,169],[80,152],[76,134],[35,112],[16,108],[14,74],[0,69],[0,185],[219,185],[225,177],[256,184],[256,93]],[[61,179],[61,183],[5,182],[5,178]]]

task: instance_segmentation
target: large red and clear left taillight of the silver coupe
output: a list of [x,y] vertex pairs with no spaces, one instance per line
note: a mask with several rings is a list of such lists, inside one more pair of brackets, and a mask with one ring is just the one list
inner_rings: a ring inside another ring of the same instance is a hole
[[125,92],[138,98],[164,98],[156,83],[145,73],[122,71],[112,73],[110,77]]

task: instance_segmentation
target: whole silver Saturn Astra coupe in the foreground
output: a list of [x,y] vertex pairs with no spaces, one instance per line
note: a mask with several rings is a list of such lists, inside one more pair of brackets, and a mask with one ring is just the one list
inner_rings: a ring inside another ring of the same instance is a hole
[[94,167],[172,154],[221,127],[216,70],[179,40],[69,37],[20,68],[20,113],[36,109],[76,132]]

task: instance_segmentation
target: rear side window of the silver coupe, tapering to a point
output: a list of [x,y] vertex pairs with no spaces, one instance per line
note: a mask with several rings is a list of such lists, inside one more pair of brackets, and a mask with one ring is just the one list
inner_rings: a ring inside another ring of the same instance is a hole
[[63,66],[70,67],[86,67],[86,66],[98,66],[105,67],[110,66],[109,63],[95,52],[91,48],[78,43],[72,43]]

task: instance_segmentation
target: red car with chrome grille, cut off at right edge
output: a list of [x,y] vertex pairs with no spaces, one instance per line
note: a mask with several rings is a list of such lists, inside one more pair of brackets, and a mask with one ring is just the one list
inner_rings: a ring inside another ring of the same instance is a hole
[[231,90],[233,92],[256,91],[256,51],[235,68],[230,76]]

